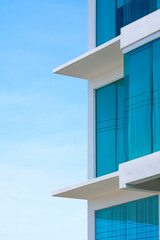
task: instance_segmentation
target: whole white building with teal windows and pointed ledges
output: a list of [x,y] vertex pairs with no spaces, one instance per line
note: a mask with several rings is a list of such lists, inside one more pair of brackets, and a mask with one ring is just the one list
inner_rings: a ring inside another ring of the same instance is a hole
[[160,0],[88,0],[88,48],[54,70],[88,80],[88,181],[53,196],[88,240],[160,240]]

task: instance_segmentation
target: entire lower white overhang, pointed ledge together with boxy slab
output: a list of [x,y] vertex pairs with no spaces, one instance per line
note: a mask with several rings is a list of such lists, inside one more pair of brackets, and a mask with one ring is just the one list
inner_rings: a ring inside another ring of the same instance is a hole
[[53,197],[92,200],[115,191],[160,192],[160,152],[125,162],[119,171],[53,192]]

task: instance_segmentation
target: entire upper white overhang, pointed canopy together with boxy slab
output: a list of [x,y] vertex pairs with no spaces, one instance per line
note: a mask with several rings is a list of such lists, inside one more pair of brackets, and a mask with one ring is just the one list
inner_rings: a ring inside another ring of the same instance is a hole
[[160,37],[160,9],[121,28],[121,35],[57,67],[53,73],[91,80],[121,66],[123,54]]

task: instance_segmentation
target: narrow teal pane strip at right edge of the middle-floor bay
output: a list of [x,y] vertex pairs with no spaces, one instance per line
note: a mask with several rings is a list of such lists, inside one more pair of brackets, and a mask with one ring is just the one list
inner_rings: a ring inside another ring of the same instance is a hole
[[153,152],[160,151],[160,39],[153,42]]

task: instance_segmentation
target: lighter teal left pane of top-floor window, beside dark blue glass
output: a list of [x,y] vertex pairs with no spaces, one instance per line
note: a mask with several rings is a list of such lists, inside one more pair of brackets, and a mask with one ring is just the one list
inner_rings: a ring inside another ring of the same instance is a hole
[[96,46],[116,36],[116,0],[96,1]]

